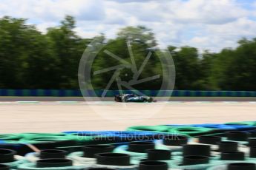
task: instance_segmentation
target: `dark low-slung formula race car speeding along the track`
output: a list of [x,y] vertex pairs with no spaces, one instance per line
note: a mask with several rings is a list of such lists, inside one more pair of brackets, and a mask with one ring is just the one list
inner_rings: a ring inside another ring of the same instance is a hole
[[135,94],[123,94],[123,95],[115,95],[114,100],[116,102],[156,102],[153,98],[148,96],[139,96]]

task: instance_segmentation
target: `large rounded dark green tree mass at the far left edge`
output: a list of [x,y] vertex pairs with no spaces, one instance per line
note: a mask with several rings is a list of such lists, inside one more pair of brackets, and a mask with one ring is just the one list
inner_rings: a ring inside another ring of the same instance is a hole
[[[56,60],[50,42],[24,19],[0,20],[1,88],[50,88]],[[49,86],[47,86],[47,82]]]

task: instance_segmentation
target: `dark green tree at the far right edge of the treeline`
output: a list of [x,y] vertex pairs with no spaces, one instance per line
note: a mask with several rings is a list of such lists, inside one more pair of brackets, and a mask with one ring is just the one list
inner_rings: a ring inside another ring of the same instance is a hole
[[224,68],[222,89],[256,90],[256,38],[242,39],[239,47],[230,51],[229,64]]

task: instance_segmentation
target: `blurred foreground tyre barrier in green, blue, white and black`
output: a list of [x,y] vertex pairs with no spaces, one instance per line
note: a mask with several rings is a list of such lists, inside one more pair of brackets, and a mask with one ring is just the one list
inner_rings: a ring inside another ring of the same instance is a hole
[[1,134],[0,170],[255,169],[255,127],[246,121]]

